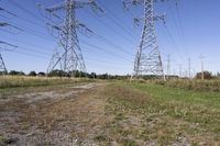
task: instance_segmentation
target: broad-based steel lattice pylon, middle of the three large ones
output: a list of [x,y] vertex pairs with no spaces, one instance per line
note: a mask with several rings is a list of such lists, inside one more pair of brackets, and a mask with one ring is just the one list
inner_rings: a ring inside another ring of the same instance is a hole
[[102,11],[94,0],[65,0],[62,4],[56,7],[46,8],[45,11],[53,16],[61,18],[56,12],[61,10],[65,11],[65,18],[62,25],[52,25],[53,29],[59,32],[58,47],[54,49],[54,54],[51,58],[47,74],[53,71],[57,66],[59,69],[66,72],[73,74],[73,71],[86,72],[86,66],[77,36],[77,30],[82,27],[86,32],[91,32],[85,24],[79,23],[76,20],[76,9],[90,5],[95,10]]

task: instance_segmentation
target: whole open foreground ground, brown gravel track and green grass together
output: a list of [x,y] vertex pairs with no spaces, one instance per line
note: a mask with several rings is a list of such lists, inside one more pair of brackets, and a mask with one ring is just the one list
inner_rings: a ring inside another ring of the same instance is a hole
[[220,145],[218,91],[158,82],[51,83],[0,90],[0,144],[15,136],[21,145],[37,138],[42,145]]

